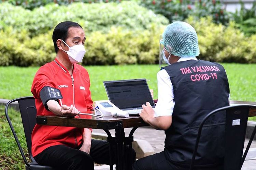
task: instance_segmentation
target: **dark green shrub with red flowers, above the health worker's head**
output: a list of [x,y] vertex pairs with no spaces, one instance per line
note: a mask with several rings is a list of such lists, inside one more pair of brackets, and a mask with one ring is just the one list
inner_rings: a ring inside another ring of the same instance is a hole
[[162,14],[173,21],[183,21],[189,15],[198,19],[200,17],[212,16],[213,22],[227,24],[229,14],[223,9],[220,0],[198,0],[194,1],[192,7],[190,0],[140,0],[140,4],[157,14]]

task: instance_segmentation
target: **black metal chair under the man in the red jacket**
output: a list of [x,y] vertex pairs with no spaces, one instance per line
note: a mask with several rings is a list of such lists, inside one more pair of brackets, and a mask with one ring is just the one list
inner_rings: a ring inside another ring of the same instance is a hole
[[[28,163],[28,161],[25,157],[25,154],[22,150],[22,147],[20,146],[19,140],[17,138],[17,135],[12,126],[12,122],[8,115],[8,107],[11,103],[13,103],[15,101],[18,101],[18,103],[19,103],[19,110],[20,110],[20,115],[22,117],[22,124],[23,124],[24,133],[25,133],[25,137],[26,137],[29,157],[32,161],[31,163]],[[10,128],[12,130],[13,136],[18,145],[18,148],[22,155],[22,158],[26,164],[26,170],[53,170],[52,167],[38,165],[35,162],[35,160],[32,156],[32,153],[31,153],[31,134],[32,134],[33,128],[35,126],[36,116],[37,116],[37,109],[35,108],[35,99],[33,97],[21,97],[21,98],[17,98],[17,99],[13,99],[13,100],[9,101],[5,105],[5,116],[10,125]]]

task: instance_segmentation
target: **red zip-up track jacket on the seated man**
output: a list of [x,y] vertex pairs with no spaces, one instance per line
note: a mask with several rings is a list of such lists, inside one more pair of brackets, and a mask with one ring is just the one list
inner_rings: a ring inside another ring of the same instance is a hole
[[[35,98],[37,115],[55,115],[47,111],[40,99],[39,92],[44,86],[60,90],[62,104],[73,104],[79,111],[86,112],[93,109],[90,80],[86,69],[74,64],[73,79],[68,70],[55,58],[51,63],[40,67],[35,74],[31,92]],[[32,155],[36,156],[44,149],[54,145],[66,145],[77,148],[82,144],[83,128],[64,126],[48,126],[35,124],[32,132]]]

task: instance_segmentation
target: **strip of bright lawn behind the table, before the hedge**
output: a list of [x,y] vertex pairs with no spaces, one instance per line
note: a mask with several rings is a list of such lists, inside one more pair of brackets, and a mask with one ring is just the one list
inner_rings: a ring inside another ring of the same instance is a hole
[[[231,100],[256,101],[256,64],[223,64],[228,75]],[[32,96],[34,74],[39,67],[0,67],[0,98]],[[158,65],[86,66],[93,100],[107,99],[103,81],[146,78],[157,99]]]

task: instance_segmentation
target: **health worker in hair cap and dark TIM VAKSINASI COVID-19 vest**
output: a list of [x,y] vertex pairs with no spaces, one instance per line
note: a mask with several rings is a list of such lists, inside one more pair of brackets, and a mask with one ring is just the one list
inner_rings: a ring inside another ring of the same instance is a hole
[[[137,160],[134,170],[188,170],[198,127],[214,109],[229,105],[229,84],[225,69],[214,62],[197,60],[198,37],[186,22],[169,24],[160,40],[157,73],[158,102],[154,109],[147,102],[140,116],[153,128],[164,130],[165,149]],[[216,114],[212,124],[225,123],[225,114]],[[194,169],[222,170],[225,125],[202,131]]]

